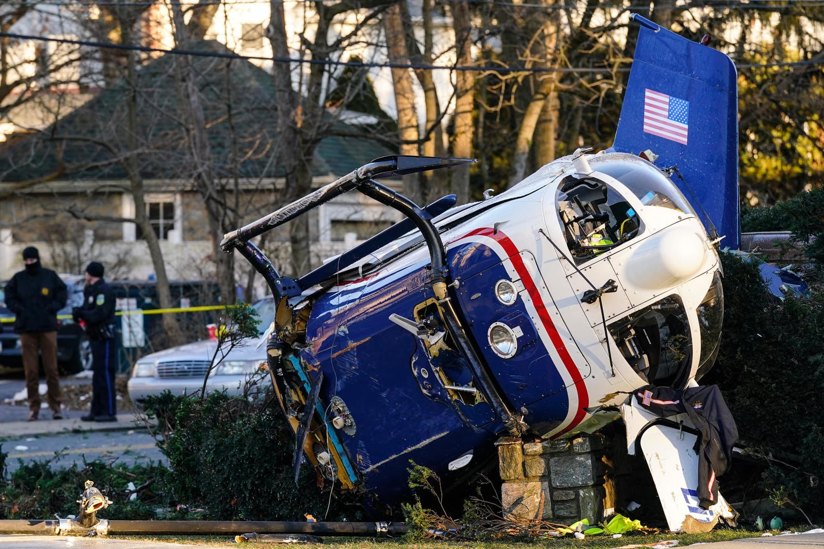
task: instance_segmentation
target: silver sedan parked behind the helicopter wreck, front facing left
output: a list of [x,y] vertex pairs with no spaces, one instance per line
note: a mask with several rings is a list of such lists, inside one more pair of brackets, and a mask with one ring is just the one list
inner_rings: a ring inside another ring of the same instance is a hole
[[[207,392],[225,389],[227,393],[240,394],[246,381],[259,372],[261,366],[265,366],[265,342],[260,347],[258,344],[274,319],[274,299],[256,301],[251,306],[260,319],[259,337],[244,338],[228,350],[208,375]],[[203,388],[204,377],[217,347],[218,340],[208,338],[143,356],[132,368],[129,398],[139,408],[143,407],[148,395],[164,391],[190,395],[198,393]],[[268,375],[265,376],[265,383],[269,383]]]

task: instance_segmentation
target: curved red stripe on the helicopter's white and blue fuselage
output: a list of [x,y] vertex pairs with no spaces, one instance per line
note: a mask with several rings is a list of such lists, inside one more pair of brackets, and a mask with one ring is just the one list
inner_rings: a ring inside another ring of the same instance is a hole
[[520,251],[517,249],[515,244],[513,244],[513,241],[509,240],[509,237],[504,235],[500,230],[495,232],[489,227],[473,230],[471,233],[461,236],[461,238],[456,240],[463,240],[474,235],[486,236],[495,240],[501,245],[503,251],[509,256],[509,260],[513,263],[515,271],[517,271],[518,276],[521,277],[521,281],[523,282],[523,285],[532,300],[532,304],[535,305],[535,309],[538,316],[541,318],[541,323],[543,323],[546,333],[549,334],[552,344],[555,345],[555,351],[558,351],[558,355],[561,357],[564,367],[567,369],[569,376],[573,380],[575,388],[578,392],[578,410],[575,412],[572,422],[569,423],[568,426],[564,427],[563,430],[560,430],[555,434],[555,436],[563,435],[574,426],[577,426],[578,423],[583,420],[583,416],[586,415],[586,412],[583,411],[583,407],[586,406],[585,402],[589,402],[587,386],[583,383],[583,378],[581,377],[580,371],[578,371],[578,367],[575,365],[575,361],[572,356],[569,356],[569,351],[567,351],[558,330],[555,328],[555,324],[552,322],[552,319],[550,319],[550,313],[546,309],[546,305],[544,305],[544,300],[541,299],[541,293],[538,291],[536,283],[532,280],[529,271],[527,271],[527,266],[523,263]]

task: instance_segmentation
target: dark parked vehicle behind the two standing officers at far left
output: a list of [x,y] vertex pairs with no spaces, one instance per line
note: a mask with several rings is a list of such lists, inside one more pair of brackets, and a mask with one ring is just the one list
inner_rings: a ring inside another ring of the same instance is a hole
[[[81,326],[72,320],[72,307],[83,304],[82,275],[60,274],[68,291],[66,306],[58,311],[57,361],[60,375],[73,375],[91,368],[91,349]],[[6,283],[0,283],[0,367],[5,370],[23,369],[20,335],[14,332],[14,314],[6,308]]]

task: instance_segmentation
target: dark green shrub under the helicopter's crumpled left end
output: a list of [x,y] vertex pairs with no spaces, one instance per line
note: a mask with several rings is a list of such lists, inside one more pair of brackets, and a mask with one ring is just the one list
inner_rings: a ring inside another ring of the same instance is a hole
[[174,475],[174,499],[203,507],[213,520],[303,520],[358,518],[347,506],[321,491],[311,464],[305,463],[297,486],[293,479],[294,435],[274,394],[254,400],[210,393],[204,399],[169,393],[148,398],[164,440],[159,444]]

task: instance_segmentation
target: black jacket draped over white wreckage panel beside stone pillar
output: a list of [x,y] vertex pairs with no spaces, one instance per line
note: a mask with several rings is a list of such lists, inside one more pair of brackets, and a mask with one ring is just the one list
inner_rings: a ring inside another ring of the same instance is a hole
[[733,445],[738,430],[718,385],[674,389],[645,387],[635,391],[639,405],[656,416],[668,417],[686,413],[700,431],[695,441],[698,454],[698,497],[700,506],[709,509],[718,501],[717,477],[732,464]]

